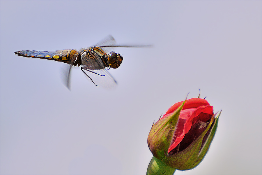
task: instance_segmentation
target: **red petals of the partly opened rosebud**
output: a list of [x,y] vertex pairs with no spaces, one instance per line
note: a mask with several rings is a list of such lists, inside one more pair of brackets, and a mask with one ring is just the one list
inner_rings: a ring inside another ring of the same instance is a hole
[[[167,110],[166,114],[162,118],[171,115],[174,111],[176,111],[176,109],[181,106],[183,102],[184,101],[180,101],[171,106],[171,108]],[[198,127],[198,129],[200,130],[198,134],[193,133],[193,136],[199,136],[201,134],[201,130],[206,127],[207,122],[210,121],[213,115],[213,106],[210,106],[208,101],[206,101],[205,99],[192,98],[186,100],[183,109],[180,112],[178,124],[176,125],[176,131],[172,140],[173,143],[169,147],[168,153],[170,153],[171,150],[178,146],[178,144],[184,139],[185,135],[190,131],[192,126]],[[195,132],[197,132],[196,129],[194,130]],[[193,141],[192,136],[188,135],[188,137],[189,138],[185,138],[187,140],[184,141],[184,143],[186,142],[187,145],[182,145],[182,148],[185,148],[185,146],[188,146],[188,143]]]

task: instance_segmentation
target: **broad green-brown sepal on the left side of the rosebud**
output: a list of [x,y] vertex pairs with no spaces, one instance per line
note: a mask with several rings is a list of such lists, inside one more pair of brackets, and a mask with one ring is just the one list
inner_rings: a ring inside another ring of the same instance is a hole
[[159,160],[164,159],[168,155],[168,148],[173,139],[179,115],[184,104],[185,101],[171,115],[158,120],[151,127],[147,139],[148,148],[151,150],[153,156]]

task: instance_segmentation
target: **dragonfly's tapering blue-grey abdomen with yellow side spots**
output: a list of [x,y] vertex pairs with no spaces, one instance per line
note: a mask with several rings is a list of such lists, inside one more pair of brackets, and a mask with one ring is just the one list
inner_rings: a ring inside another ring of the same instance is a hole
[[23,57],[44,58],[47,60],[55,60],[68,64],[76,61],[79,53],[74,49],[56,50],[56,51],[37,51],[37,50],[21,50],[15,54]]

